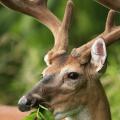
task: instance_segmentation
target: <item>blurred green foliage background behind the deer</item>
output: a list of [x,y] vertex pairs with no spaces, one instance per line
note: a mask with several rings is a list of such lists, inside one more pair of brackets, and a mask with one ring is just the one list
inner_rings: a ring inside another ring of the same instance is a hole
[[[67,0],[49,0],[60,19]],[[104,31],[108,9],[93,0],[74,0],[69,50]],[[120,14],[116,18],[120,24]],[[0,104],[17,105],[19,98],[40,79],[43,57],[53,45],[51,32],[34,18],[0,5]],[[101,81],[113,120],[120,119],[120,41],[108,48],[108,69]]]

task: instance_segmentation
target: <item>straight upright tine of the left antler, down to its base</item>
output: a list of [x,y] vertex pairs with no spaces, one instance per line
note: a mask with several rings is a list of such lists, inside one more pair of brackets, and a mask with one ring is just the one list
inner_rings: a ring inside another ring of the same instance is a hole
[[72,0],[68,0],[63,21],[57,34],[57,40],[55,41],[54,49],[61,49],[61,50],[67,49],[68,30],[71,21],[72,10],[73,10],[73,2]]

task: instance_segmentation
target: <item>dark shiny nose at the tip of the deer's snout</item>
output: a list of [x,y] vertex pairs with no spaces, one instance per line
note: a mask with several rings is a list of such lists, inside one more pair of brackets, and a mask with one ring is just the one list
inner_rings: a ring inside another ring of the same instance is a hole
[[18,102],[18,108],[21,112],[29,111],[35,104],[35,101],[36,101],[35,99],[30,100],[26,96],[23,96],[20,98]]

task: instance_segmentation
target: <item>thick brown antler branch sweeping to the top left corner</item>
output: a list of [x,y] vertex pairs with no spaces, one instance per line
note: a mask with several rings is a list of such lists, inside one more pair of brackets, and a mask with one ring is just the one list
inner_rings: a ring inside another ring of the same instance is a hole
[[0,2],[15,11],[37,18],[56,38],[61,21],[47,8],[47,0],[0,0]]

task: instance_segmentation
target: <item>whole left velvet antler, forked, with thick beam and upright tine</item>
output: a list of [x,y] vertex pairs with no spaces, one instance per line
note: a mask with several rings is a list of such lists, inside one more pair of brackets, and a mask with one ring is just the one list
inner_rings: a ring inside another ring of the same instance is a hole
[[55,44],[53,49],[45,56],[45,61],[48,65],[52,63],[54,58],[66,52],[68,29],[73,10],[72,0],[67,2],[62,22],[47,8],[47,0],[0,0],[0,2],[15,11],[37,18],[52,31]]

